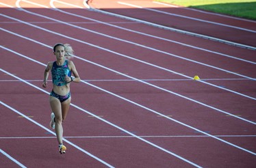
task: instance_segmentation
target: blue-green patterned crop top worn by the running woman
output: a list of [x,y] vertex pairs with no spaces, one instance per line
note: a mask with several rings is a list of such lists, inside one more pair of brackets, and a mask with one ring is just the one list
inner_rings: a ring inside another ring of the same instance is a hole
[[68,60],[64,62],[62,66],[58,66],[56,61],[53,62],[53,68],[51,68],[51,76],[53,77],[53,84],[57,86],[66,85],[65,76],[71,77],[71,70],[68,68]]

